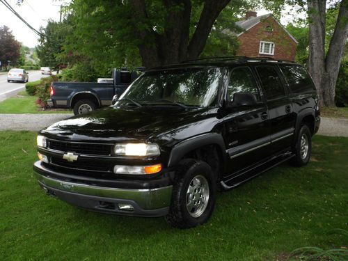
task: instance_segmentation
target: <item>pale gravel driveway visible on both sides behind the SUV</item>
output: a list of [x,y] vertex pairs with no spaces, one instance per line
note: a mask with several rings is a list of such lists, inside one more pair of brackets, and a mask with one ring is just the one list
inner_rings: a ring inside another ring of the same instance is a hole
[[[0,114],[0,130],[38,131],[73,114]],[[348,119],[322,118],[318,134],[348,137]]]

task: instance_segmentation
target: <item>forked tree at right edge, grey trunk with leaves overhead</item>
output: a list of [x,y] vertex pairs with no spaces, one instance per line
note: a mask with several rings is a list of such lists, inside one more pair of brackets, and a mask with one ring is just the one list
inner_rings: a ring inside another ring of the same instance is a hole
[[[335,106],[335,85],[348,37],[348,0],[264,0],[264,4],[273,10],[296,6],[307,13],[308,69],[317,86],[320,104]],[[328,12],[332,13],[328,16]]]

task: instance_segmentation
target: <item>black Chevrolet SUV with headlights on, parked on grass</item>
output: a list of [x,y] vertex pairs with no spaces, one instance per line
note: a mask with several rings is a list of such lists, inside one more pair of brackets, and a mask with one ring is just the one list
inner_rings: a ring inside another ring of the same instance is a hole
[[308,163],[319,129],[308,72],[268,58],[209,58],[145,71],[106,109],[38,134],[50,195],[97,212],[190,228],[231,189],[283,161]]

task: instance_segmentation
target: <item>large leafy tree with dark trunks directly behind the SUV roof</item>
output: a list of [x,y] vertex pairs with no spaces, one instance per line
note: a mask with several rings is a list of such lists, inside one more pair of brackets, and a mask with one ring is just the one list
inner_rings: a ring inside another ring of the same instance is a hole
[[[139,65],[140,57],[147,68],[197,58],[207,42],[211,46],[222,43],[221,54],[235,44],[228,43],[220,29],[232,29],[237,15],[244,15],[256,2],[75,0],[70,6],[74,32],[68,35],[65,52],[67,56],[89,56],[96,63],[109,58],[118,65],[120,61]],[[214,53],[212,48],[205,51],[206,55]]]

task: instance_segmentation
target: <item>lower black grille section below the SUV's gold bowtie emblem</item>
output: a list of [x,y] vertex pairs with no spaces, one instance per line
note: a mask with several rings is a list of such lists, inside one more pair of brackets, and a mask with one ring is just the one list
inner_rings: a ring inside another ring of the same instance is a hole
[[74,162],[66,161],[65,159],[59,159],[56,157],[51,158],[51,164],[56,166],[62,166],[64,168],[75,168],[86,171],[110,171],[110,164],[103,161],[90,161],[90,160],[78,160]]

